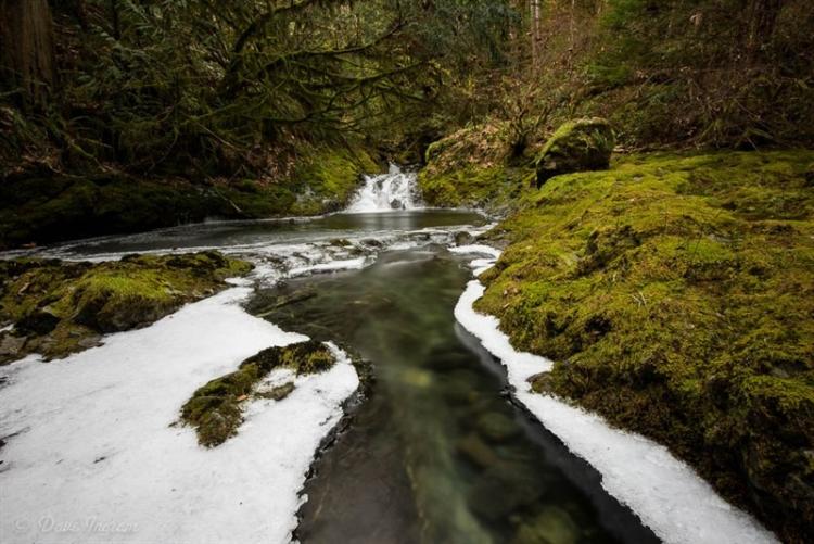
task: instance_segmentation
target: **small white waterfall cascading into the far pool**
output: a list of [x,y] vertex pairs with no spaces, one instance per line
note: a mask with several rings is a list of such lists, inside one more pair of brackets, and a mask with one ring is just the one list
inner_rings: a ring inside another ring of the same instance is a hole
[[352,214],[414,210],[418,207],[416,174],[402,172],[395,164],[390,172],[379,176],[365,176],[365,185],[358,190],[345,212]]

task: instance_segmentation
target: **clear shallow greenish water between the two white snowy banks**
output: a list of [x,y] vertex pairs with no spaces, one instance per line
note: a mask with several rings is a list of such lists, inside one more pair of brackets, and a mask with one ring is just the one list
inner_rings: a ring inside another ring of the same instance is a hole
[[[500,365],[455,324],[471,273],[427,245],[290,280],[249,309],[334,340],[374,381],[306,485],[302,542],[658,542],[599,476],[513,406]],[[281,301],[296,301],[280,305]]]

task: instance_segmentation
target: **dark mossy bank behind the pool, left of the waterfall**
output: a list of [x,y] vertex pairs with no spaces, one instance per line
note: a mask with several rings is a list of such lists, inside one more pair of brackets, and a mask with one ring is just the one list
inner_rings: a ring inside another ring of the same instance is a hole
[[315,215],[344,206],[361,175],[380,166],[366,150],[305,148],[267,178],[141,179],[123,174],[17,176],[0,182],[0,250],[201,222]]

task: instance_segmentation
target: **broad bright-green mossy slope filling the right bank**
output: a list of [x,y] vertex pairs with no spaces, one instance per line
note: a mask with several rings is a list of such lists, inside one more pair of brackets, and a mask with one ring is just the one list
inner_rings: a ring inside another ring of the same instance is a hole
[[537,391],[652,437],[787,542],[814,527],[814,152],[559,176],[494,237],[478,308]]

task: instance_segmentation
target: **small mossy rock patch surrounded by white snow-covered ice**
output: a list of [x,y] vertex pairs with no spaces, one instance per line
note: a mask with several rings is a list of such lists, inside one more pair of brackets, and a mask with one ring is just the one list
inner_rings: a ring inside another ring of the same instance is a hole
[[331,351],[314,340],[263,350],[241,363],[238,370],[199,388],[181,408],[181,421],[195,428],[201,445],[215,447],[237,434],[243,422],[241,403],[250,395],[281,401],[294,390],[289,382],[269,391],[255,391],[272,369],[287,367],[297,375],[315,374],[328,370],[334,363]]

